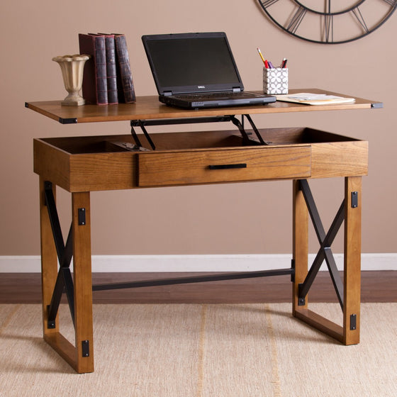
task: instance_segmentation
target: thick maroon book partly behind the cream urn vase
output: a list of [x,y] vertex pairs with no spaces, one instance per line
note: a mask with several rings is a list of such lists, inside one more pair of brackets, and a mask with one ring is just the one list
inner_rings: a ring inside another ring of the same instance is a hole
[[104,35],[79,33],[80,54],[91,55],[83,74],[83,98],[87,104],[108,104]]

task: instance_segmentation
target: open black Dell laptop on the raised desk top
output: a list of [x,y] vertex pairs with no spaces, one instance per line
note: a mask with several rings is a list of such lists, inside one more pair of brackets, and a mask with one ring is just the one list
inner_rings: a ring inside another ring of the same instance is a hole
[[163,104],[196,109],[276,101],[244,91],[223,32],[144,35],[142,42]]

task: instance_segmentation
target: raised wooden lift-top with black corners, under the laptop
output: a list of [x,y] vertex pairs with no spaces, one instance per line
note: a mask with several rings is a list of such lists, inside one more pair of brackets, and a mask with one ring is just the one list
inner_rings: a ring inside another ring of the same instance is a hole
[[[321,89],[291,89],[290,94],[297,92],[312,92],[316,94],[331,94],[347,96]],[[102,121],[155,120],[164,118],[196,118],[209,116],[230,116],[259,113],[288,113],[294,111],[330,111],[382,107],[381,102],[355,98],[353,104],[328,104],[311,106],[276,101],[273,104],[259,106],[230,106],[228,108],[206,108],[199,110],[173,108],[161,104],[158,96],[138,96],[135,104],[118,105],[84,105],[61,106],[61,101],[26,102],[26,107],[44,116],[69,123],[94,123]]]

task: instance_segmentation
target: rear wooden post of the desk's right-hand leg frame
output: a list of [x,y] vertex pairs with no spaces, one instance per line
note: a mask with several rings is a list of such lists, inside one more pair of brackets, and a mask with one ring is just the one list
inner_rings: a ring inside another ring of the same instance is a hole
[[293,308],[296,315],[298,308],[307,308],[308,299],[303,306],[298,306],[298,286],[303,283],[308,273],[308,208],[299,181],[293,181],[293,262],[295,264],[295,278],[292,285]]

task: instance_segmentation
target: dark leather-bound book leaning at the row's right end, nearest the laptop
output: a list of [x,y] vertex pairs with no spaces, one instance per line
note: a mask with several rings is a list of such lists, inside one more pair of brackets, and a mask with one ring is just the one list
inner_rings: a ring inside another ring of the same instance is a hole
[[115,44],[120,79],[119,84],[123,92],[123,96],[119,96],[118,101],[131,104],[136,101],[136,97],[125,35],[115,35]]

